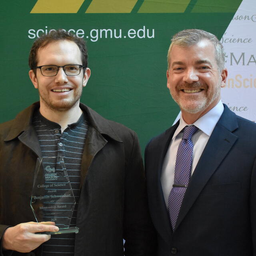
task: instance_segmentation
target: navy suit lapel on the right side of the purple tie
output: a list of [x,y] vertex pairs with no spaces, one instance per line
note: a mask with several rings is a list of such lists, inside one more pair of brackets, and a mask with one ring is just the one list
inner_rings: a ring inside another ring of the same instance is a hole
[[176,229],[212,174],[236,142],[237,136],[232,132],[237,128],[236,115],[224,105],[224,112],[217,122],[191,176],[176,222]]

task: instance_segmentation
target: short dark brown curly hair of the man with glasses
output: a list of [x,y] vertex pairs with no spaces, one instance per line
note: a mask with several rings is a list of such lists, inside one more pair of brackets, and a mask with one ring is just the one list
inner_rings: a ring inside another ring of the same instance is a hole
[[46,45],[48,45],[50,42],[58,41],[58,40],[69,40],[78,46],[78,48],[81,51],[81,58],[82,58],[82,65],[84,66],[83,71],[85,72],[85,69],[87,68],[87,47],[86,43],[82,38],[78,38],[77,36],[66,32],[63,29],[58,30],[51,30],[49,34],[44,34],[37,38],[34,42],[34,44],[31,47],[30,54],[28,57],[28,65],[33,70],[34,67],[37,66],[38,59],[37,59],[37,52],[40,48],[44,48]]

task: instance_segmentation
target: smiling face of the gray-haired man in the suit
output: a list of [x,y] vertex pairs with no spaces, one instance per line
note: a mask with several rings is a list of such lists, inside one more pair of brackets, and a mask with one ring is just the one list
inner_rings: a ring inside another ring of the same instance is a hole
[[180,106],[183,118],[196,114],[197,120],[216,106],[227,71],[218,71],[215,48],[209,40],[190,47],[174,45],[169,66],[167,87]]

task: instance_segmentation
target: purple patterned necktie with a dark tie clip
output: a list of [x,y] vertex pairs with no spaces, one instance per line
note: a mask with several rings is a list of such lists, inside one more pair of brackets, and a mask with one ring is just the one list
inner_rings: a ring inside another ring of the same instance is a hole
[[182,140],[177,151],[174,184],[168,197],[168,211],[173,231],[175,230],[180,206],[190,179],[194,147],[191,138],[197,130],[198,128],[194,125],[184,128]]

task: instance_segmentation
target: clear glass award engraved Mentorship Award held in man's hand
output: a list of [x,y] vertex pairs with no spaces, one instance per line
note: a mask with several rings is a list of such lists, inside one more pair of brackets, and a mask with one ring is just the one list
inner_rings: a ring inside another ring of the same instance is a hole
[[36,222],[54,221],[59,228],[41,234],[78,233],[77,227],[70,227],[75,204],[63,157],[37,158],[30,206]]

